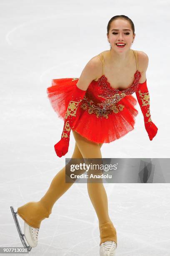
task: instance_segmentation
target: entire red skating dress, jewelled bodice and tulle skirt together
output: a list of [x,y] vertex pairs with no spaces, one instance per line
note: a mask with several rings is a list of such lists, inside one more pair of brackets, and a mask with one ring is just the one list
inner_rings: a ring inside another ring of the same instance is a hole
[[[138,89],[140,77],[137,69],[133,84],[124,90],[112,88],[105,75],[93,80],[77,108],[72,130],[96,143],[110,143],[132,131],[138,114],[132,94]],[[63,120],[77,81],[78,78],[53,79],[47,88],[52,107]]]

